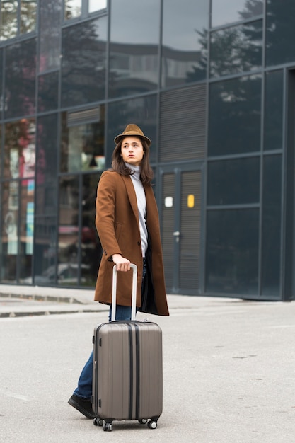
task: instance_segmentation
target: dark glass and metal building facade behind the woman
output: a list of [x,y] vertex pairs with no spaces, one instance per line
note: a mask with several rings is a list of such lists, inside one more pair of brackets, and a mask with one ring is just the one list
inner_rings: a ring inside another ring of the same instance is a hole
[[152,140],[169,293],[295,299],[293,0],[0,0],[0,284],[92,289],[114,137]]

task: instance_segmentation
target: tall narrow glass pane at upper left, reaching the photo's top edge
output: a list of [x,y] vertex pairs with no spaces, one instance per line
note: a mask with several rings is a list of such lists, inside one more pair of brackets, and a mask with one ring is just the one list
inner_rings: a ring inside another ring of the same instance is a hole
[[40,0],[40,72],[59,68],[61,9],[62,0]]

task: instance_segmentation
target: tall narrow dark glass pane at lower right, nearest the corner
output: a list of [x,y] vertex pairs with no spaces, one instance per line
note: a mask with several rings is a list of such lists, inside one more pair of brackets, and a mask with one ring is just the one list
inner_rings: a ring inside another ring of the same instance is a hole
[[262,295],[277,297],[281,269],[282,156],[265,156],[262,206]]

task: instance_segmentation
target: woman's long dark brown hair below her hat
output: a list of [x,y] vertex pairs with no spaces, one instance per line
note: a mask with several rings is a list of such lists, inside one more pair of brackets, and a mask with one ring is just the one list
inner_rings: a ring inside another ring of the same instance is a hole
[[[144,148],[144,156],[140,163],[140,179],[142,183],[144,183],[145,185],[149,185],[152,178],[154,177],[153,170],[151,168],[151,165],[149,164],[149,146],[146,143],[146,140],[142,139],[141,137],[137,138],[141,140],[142,147]],[[112,153],[112,169],[122,176],[131,176],[132,170],[125,165],[125,162],[121,156],[121,146],[123,139],[124,137],[122,137]]]

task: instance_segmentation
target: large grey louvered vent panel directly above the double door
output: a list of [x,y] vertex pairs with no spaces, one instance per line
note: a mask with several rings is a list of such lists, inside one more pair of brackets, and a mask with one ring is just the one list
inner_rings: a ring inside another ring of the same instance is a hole
[[160,112],[160,161],[204,158],[206,85],[163,92]]

